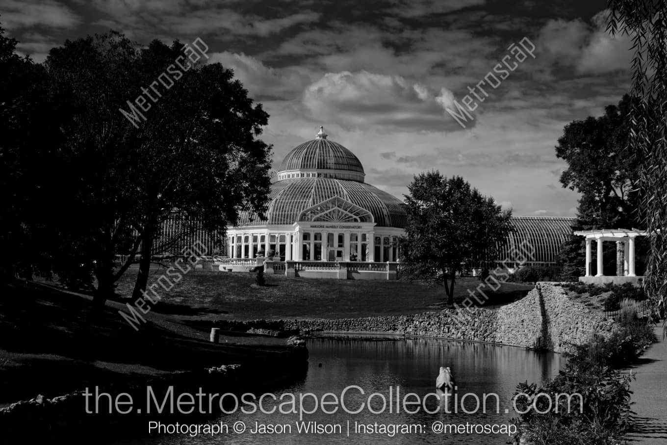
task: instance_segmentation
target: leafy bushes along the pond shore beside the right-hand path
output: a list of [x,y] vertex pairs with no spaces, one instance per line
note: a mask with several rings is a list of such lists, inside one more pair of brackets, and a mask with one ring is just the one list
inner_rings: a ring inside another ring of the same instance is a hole
[[[632,374],[621,368],[632,364],[656,341],[652,324],[639,318],[636,305],[620,302],[616,329],[610,336],[595,334],[568,352],[568,362],[556,378],[542,386],[524,382],[517,388],[515,440],[533,445],[625,444],[622,435],[632,416]],[[549,398],[538,394],[548,394]],[[526,394],[524,396],[523,394]],[[556,398],[556,394],[581,394],[581,399]],[[536,399],[535,399],[536,398]],[[550,399],[554,404],[549,402]]]

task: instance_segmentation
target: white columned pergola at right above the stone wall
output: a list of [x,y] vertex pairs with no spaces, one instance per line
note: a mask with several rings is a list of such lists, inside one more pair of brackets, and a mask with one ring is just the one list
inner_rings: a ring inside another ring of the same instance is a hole
[[634,272],[634,239],[638,236],[646,236],[646,230],[638,229],[600,229],[600,230],[581,230],[574,232],[575,235],[586,237],[586,276],[590,277],[591,264],[591,244],[593,240],[598,243],[598,274],[596,277],[602,277],[602,242],[615,241],[618,244],[624,244],[623,276],[635,277]]

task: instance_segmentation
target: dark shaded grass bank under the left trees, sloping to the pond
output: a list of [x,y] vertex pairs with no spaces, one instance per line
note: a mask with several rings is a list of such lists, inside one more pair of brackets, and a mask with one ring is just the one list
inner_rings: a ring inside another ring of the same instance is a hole
[[35,388],[59,395],[139,374],[292,360],[283,344],[213,344],[160,314],[149,314],[153,319],[135,330],[117,308],[93,310],[90,300],[58,290],[2,286],[0,292],[0,402],[34,397]]

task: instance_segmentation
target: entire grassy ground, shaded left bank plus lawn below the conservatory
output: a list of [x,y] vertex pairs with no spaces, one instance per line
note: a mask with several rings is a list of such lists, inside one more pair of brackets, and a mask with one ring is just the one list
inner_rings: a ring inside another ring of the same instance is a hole
[[[149,284],[165,273],[151,270]],[[208,320],[257,318],[355,318],[411,314],[446,307],[444,289],[401,281],[317,280],[193,270],[145,314],[146,324],[133,330],[118,311],[127,312],[137,268],[127,271],[117,288],[118,301],[101,312],[91,297],[30,284],[5,288],[0,299],[0,406],[37,394],[57,396],[84,386],[125,384],[179,370],[229,363],[279,360],[285,340],[227,333],[221,344],[208,342]],[[53,283],[51,283],[53,285]],[[456,301],[476,278],[456,284]],[[494,303],[522,298],[532,286],[503,284]],[[274,355],[275,354],[275,355]],[[174,360],[177,358],[178,360]],[[45,370],[58,378],[49,378]]]

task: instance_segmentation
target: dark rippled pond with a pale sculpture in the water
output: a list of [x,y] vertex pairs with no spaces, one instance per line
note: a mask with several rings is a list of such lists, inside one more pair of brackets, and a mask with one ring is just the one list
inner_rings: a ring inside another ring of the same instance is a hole
[[[199,421],[216,424],[222,428],[220,434],[151,434],[117,443],[505,444],[510,440],[510,420],[516,417],[512,395],[517,384],[552,378],[564,365],[559,354],[446,340],[315,338],[307,341],[307,347],[310,358],[305,378],[273,393],[277,402],[269,397],[263,400],[263,410],[277,408],[275,412],[264,414],[257,409],[244,414],[237,409]],[[453,393],[436,391],[440,366],[452,369],[458,386]],[[406,399],[411,392],[414,395]],[[283,412],[294,407],[315,412],[303,414],[303,423],[299,414],[281,414],[281,402],[291,400],[281,399],[286,393],[295,394],[296,401],[283,406]],[[304,393],[312,395],[304,396],[301,405],[299,394]],[[326,393],[333,395],[324,396]],[[317,403],[325,400],[329,404],[315,410],[315,398]],[[244,406],[239,403],[239,408]],[[234,425],[245,431],[235,432]]]

